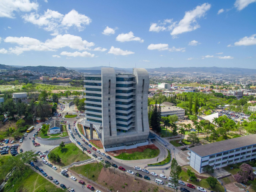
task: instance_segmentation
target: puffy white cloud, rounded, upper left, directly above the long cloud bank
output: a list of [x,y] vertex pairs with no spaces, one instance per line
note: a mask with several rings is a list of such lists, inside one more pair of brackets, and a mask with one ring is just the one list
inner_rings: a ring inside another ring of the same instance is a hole
[[90,17],[79,14],[75,9],[73,9],[64,16],[61,24],[63,26],[67,26],[67,28],[71,26],[76,26],[79,31],[83,31],[85,27],[81,25],[89,25],[91,22],[92,20],[90,19]]

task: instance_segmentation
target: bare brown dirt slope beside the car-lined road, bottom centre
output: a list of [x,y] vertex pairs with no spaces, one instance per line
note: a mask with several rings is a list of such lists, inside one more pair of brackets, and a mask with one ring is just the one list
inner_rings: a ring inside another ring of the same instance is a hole
[[[154,182],[152,180],[151,182]],[[163,186],[150,184],[144,180],[134,179],[133,176],[127,175],[123,172],[113,171],[112,169],[103,168],[99,174],[97,183],[102,186],[112,189],[112,191],[119,192],[164,192]],[[166,187],[167,189],[168,187]],[[167,190],[170,190],[167,189]]]

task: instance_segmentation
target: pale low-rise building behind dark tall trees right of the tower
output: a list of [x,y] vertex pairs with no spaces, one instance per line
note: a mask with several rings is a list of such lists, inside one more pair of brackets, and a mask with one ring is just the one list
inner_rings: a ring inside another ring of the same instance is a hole
[[175,107],[175,104],[170,102],[163,102],[161,104],[161,116],[177,115],[179,120],[183,120],[185,117],[185,109]]

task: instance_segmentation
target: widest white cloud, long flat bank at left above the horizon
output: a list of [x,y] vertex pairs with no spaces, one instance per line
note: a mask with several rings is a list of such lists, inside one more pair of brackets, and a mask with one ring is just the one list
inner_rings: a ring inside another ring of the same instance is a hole
[[[56,49],[70,47],[71,49],[87,50],[89,47],[94,46],[93,42],[82,40],[81,37],[65,34],[57,35],[55,38],[48,39],[45,42],[41,42],[35,38],[29,37],[7,37],[4,39],[6,43],[18,44],[20,47],[9,48],[9,51],[17,55],[24,51],[55,51]],[[103,48],[104,49],[104,48]]]

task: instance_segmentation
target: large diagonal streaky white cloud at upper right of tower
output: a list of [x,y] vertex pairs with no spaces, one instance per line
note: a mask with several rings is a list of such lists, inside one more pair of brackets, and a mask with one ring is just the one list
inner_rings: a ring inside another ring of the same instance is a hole
[[210,8],[211,4],[204,3],[201,6],[196,6],[195,9],[186,12],[183,19],[180,20],[177,26],[172,30],[171,35],[178,35],[198,29],[200,25],[197,23],[197,19],[203,17]]

